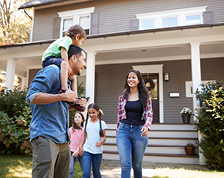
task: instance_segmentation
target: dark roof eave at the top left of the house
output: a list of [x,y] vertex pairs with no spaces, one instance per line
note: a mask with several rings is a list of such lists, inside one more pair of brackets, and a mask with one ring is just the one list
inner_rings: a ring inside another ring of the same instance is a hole
[[[29,0],[25,4],[21,5],[19,9],[25,9],[30,7],[38,7],[43,5],[49,5],[58,2],[71,1],[71,0]],[[76,0],[79,1],[79,0]]]

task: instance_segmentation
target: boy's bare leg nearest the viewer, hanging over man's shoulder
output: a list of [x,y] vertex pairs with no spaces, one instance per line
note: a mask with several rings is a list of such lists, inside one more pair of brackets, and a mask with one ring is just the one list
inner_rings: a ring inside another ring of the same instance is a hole
[[67,90],[68,89],[68,63],[65,61],[61,62],[61,71],[60,71],[60,80],[61,80],[61,89]]

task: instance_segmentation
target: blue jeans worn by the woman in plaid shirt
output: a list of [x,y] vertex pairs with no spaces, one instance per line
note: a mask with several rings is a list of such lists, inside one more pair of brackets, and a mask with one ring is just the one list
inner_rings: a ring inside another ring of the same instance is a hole
[[148,144],[148,135],[141,137],[143,126],[120,123],[117,132],[117,147],[121,163],[121,178],[131,178],[131,168],[135,178],[142,178],[142,160]]

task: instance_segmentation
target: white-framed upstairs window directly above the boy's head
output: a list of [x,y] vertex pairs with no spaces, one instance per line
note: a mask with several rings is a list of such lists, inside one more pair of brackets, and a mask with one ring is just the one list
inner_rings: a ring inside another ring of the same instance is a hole
[[71,25],[79,24],[84,28],[86,34],[90,34],[90,20],[91,13],[94,12],[94,7],[78,9],[72,11],[58,12],[59,17],[61,17],[61,33],[60,37],[65,36],[65,32]]

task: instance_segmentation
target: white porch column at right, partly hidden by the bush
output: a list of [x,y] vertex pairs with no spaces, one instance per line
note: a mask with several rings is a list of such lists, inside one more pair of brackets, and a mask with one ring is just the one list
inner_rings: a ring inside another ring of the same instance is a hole
[[[201,84],[201,62],[200,62],[200,42],[192,42],[191,43],[191,71],[192,71],[192,87],[193,93],[199,88]],[[199,88],[200,89],[200,88]],[[196,95],[193,95],[193,110],[198,108]],[[194,120],[196,117],[194,116]],[[201,134],[198,131],[198,140],[201,140]],[[199,147],[199,165],[205,165],[205,157],[202,153],[200,153]]]

